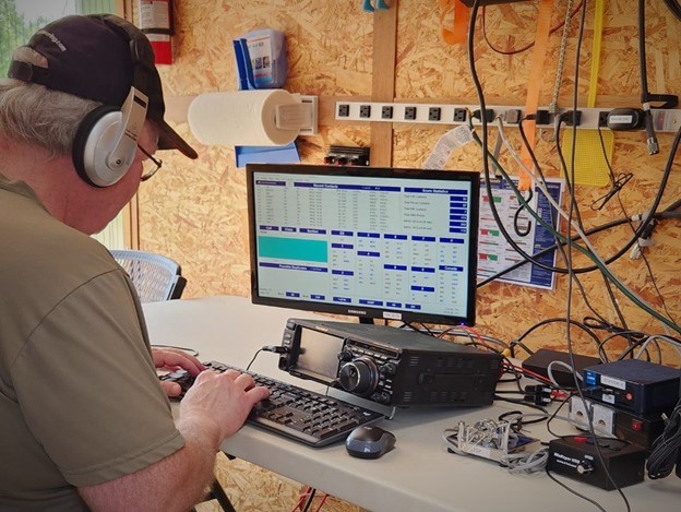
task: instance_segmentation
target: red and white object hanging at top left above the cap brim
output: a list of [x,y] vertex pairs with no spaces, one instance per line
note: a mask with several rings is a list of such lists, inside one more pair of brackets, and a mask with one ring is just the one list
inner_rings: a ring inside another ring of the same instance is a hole
[[140,29],[146,34],[157,64],[172,63],[172,0],[139,0]]

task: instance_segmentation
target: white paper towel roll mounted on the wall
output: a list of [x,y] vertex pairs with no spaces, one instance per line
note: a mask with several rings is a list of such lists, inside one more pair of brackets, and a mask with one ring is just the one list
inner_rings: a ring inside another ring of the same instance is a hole
[[202,144],[275,146],[292,142],[299,130],[276,127],[277,105],[298,103],[275,90],[205,93],[189,106],[187,120]]

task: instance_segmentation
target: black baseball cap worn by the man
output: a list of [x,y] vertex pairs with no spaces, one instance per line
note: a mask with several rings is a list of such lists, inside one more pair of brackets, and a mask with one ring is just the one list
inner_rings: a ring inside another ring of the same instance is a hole
[[166,105],[154,49],[142,31],[112,14],[71,15],[36,32],[28,48],[47,68],[12,60],[8,76],[120,108],[130,87],[146,94],[146,117],[160,128],[159,150],[196,152],[164,121]]

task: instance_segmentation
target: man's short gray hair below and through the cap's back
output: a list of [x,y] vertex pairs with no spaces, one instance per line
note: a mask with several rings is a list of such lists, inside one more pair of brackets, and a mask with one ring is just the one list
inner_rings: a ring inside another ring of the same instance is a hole
[[[13,58],[45,67],[31,48],[19,48]],[[56,155],[70,155],[77,127],[87,112],[100,105],[38,84],[0,80],[0,136],[37,144]]]

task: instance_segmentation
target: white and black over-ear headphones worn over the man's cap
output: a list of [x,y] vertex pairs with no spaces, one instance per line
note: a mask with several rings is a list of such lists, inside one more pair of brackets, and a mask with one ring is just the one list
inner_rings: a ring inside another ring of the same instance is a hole
[[96,17],[129,43],[134,66],[133,83],[120,109],[101,105],[85,116],[73,141],[72,159],[79,176],[87,183],[110,187],[126,176],[135,158],[148,98],[139,88],[143,71],[140,70],[136,35],[116,19]]

